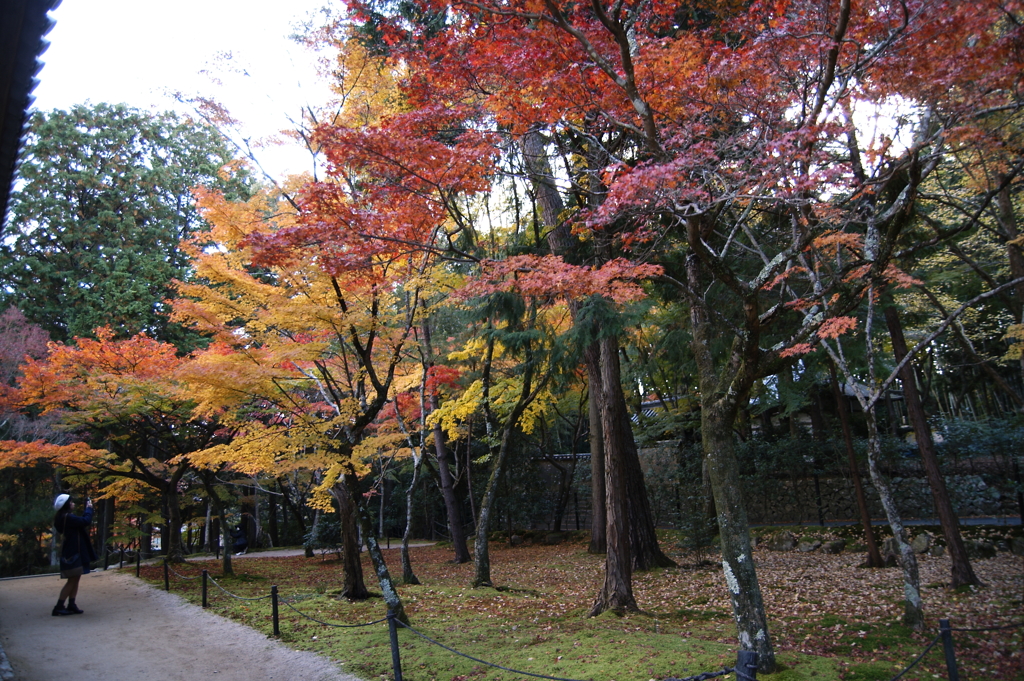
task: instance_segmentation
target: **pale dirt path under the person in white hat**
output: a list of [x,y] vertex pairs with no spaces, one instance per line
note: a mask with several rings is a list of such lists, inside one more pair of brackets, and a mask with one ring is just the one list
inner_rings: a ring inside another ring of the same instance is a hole
[[[84,614],[50,614],[61,585],[53,574],[0,581],[0,650],[16,681],[358,681],[326,657],[292,650],[127,569],[82,578]],[[0,665],[0,678],[11,678],[2,672]]]

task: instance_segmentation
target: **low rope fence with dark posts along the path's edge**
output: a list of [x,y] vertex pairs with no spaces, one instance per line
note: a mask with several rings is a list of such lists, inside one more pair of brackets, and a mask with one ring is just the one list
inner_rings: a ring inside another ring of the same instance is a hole
[[[123,555],[123,551],[122,551],[122,555]],[[299,595],[299,596],[294,596],[290,600],[285,600],[285,599],[281,598],[280,594],[278,593],[278,586],[274,585],[274,586],[270,587],[270,593],[268,595],[265,595],[265,596],[256,596],[256,597],[239,596],[238,594],[232,594],[231,592],[229,592],[226,589],[224,589],[224,587],[222,587],[220,584],[218,584],[216,580],[214,580],[212,577],[210,577],[209,571],[206,570],[206,569],[203,570],[202,574],[190,576],[189,577],[189,576],[181,574],[180,572],[178,572],[174,568],[170,567],[170,565],[168,564],[168,561],[164,560],[163,563],[164,563],[164,588],[167,591],[170,591],[170,581],[169,581],[169,578],[170,578],[170,573],[171,572],[173,572],[175,577],[177,577],[177,578],[179,578],[181,580],[185,580],[185,581],[200,580],[200,579],[202,580],[202,585],[203,585],[203,587],[202,587],[203,588],[203,607],[204,608],[208,607],[209,598],[208,598],[208,586],[207,585],[208,585],[209,582],[213,582],[213,585],[215,587],[217,587],[218,589],[220,589],[220,591],[222,591],[225,595],[227,595],[230,598],[233,598],[236,600],[250,601],[251,602],[251,601],[261,601],[261,600],[267,600],[267,599],[269,599],[270,603],[271,603],[271,619],[272,619],[272,622],[273,622],[273,635],[275,637],[280,637],[281,636],[281,618],[280,618],[280,607],[279,607],[281,603],[284,603],[290,609],[292,609],[294,612],[296,612],[297,614],[301,615],[302,618],[305,618],[306,620],[314,622],[314,623],[316,623],[316,624],[318,624],[321,626],[324,626],[324,627],[332,627],[332,628],[337,628],[337,629],[359,629],[359,628],[364,628],[364,627],[373,627],[375,625],[379,625],[381,623],[386,622],[387,625],[388,625],[388,633],[389,633],[390,643],[391,643],[391,663],[392,663],[392,667],[394,669],[394,681],[402,681],[402,676],[401,676],[401,661],[400,661],[400,655],[399,655],[399,650],[398,650],[398,635],[397,635],[397,631],[398,631],[399,627],[402,628],[402,629],[406,629],[406,630],[408,630],[410,632],[412,632],[414,635],[418,636],[420,639],[426,641],[427,643],[429,643],[431,645],[435,645],[435,646],[437,646],[439,648],[447,650],[449,652],[451,652],[451,653],[453,653],[455,655],[458,655],[458,656],[461,656],[461,657],[465,657],[466,659],[470,659],[470,661],[472,661],[474,663],[477,663],[477,664],[480,664],[480,665],[484,665],[484,666],[490,667],[493,669],[502,670],[503,672],[509,672],[509,673],[515,674],[517,676],[525,676],[525,677],[530,677],[530,678],[535,678],[535,679],[547,679],[548,681],[585,681],[585,680],[581,680],[581,679],[568,679],[568,678],[563,678],[563,677],[558,677],[558,676],[548,676],[546,674],[537,674],[535,672],[525,672],[525,671],[522,671],[522,670],[517,670],[517,669],[511,669],[511,668],[508,668],[508,667],[503,667],[503,666],[495,664],[495,663],[489,663],[489,662],[487,662],[485,659],[480,659],[479,657],[474,657],[473,655],[470,655],[470,654],[467,654],[465,652],[462,652],[461,650],[457,650],[457,649],[455,649],[453,647],[444,645],[443,643],[441,643],[441,642],[439,642],[437,640],[434,640],[433,638],[427,636],[423,632],[417,631],[411,625],[408,625],[404,622],[401,622],[397,618],[397,615],[395,615],[395,613],[392,610],[388,610],[387,615],[384,616],[384,618],[381,618],[380,620],[374,620],[373,622],[367,622],[367,623],[356,624],[356,625],[343,625],[343,624],[338,624],[338,623],[324,622],[323,620],[318,620],[318,619],[316,619],[316,618],[314,618],[314,616],[312,616],[310,614],[307,614],[307,613],[299,610],[297,607],[295,607],[296,603],[300,603],[300,602],[302,602],[304,600],[307,600],[309,598],[315,597],[313,595],[309,595],[309,596],[301,596],[301,595]],[[137,570],[137,563],[136,563],[136,570]],[[942,642],[942,649],[943,649],[943,652],[945,654],[946,672],[947,672],[947,675],[948,675],[947,678],[949,679],[949,681],[959,681],[959,671],[958,671],[957,666],[956,666],[956,655],[955,655],[955,649],[954,649],[953,638],[952,638],[952,633],[953,632],[978,633],[978,632],[989,632],[989,631],[1002,631],[1002,630],[1008,630],[1008,629],[1017,629],[1017,628],[1021,628],[1021,627],[1024,627],[1024,622],[1018,622],[1018,623],[1015,623],[1015,624],[1002,625],[1002,626],[997,626],[997,627],[978,627],[978,628],[957,627],[957,628],[953,628],[953,627],[949,626],[949,621],[948,620],[939,620],[939,633],[938,633],[938,635],[934,639],[932,639],[932,641],[930,643],[928,643],[927,646],[925,646],[925,649],[922,650],[913,658],[913,661],[910,662],[909,665],[907,665],[906,667],[904,667],[896,676],[892,677],[892,679],[890,679],[890,681],[899,681],[899,679],[902,679],[907,673],[909,673],[914,667],[916,667],[918,664],[922,659],[924,659],[928,655],[928,653],[931,652],[932,649],[935,648],[939,644],[940,641]],[[685,678],[668,678],[668,679],[665,679],[664,681],[709,681],[710,679],[714,679],[714,678],[718,678],[718,677],[722,677],[722,676],[727,676],[729,674],[735,674],[736,675],[736,681],[757,681],[757,668],[758,668],[757,653],[754,652],[753,650],[739,650],[738,653],[737,653],[737,656],[736,656],[736,666],[735,667],[727,667],[727,668],[722,669],[722,670],[717,671],[717,672],[703,672],[701,674],[696,674],[694,676],[687,676]],[[591,680],[586,680],[586,681],[593,681],[593,680],[591,679]]]

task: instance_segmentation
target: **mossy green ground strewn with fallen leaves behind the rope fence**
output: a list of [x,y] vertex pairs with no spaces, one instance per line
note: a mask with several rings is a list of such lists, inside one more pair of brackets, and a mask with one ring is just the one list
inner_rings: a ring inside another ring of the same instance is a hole
[[[386,556],[396,569],[397,551]],[[673,557],[685,562],[683,554]],[[718,569],[638,573],[634,592],[642,611],[588,618],[603,579],[603,557],[588,554],[582,541],[493,546],[498,588],[468,587],[473,566],[452,563],[450,548],[414,548],[412,559],[423,584],[398,588],[413,627],[449,647],[502,667],[569,679],[646,681],[735,664],[736,631]],[[989,585],[985,589],[958,594],[939,587],[926,590],[926,612],[933,619],[923,635],[899,624],[898,569],[858,569],[860,556],[850,554],[758,551],[755,560],[779,665],[776,674],[759,678],[772,681],[888,680],[928,644],[937,626],[934,619],[948,616],[961,627],[1020,619],[1024,580],[1010,557],[976,563]],[[364,679],[392,677],[385,625],[340,629],[313,621],[357,625],[384,616],[379,594],[357,602],[339,597],[341,571],[336,562],[251,556],[234,561],[234,577],[221,577],[219,563],[209,561],[175,569],[195,577],[204,566],[224,589],[243,598],[265,596],[276,585],[286,644],[324,654]],[[364,570],[368,586],[376,587],[369,562]],[[922,571],[923,584],[940,584],[943,577],[948,579],[948,562],[923,559]],[[143,566],[142,577],[163,586],[159,566]],[[198,580],[172,576],[171,587],[189,601],[201,602]],[[270,635],[268,600],[236,600],[212,585],[209,593],[214,612]],[[1020,630],[956,636],[962,677],[1021,678]],[[455,655],[410,631],[401,631],[399,641],[403,671],[415,681],[515,678]],[[940,678],[945,674],[938,649],[904,678],[924,681],[934,674]]]

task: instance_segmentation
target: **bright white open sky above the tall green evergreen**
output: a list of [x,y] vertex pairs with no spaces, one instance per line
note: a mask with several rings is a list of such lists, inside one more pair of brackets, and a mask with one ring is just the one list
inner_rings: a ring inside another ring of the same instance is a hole
[[[248,136],[266,138],[289,128],[289,117],[298,119],[303,105],[330,96],[315,75],[314,55],[288,36],[331,2],[63,0],[51,13],[56,25],[41,57],[34,107],[124,102],[187,113],[172,96],[180,91],[221,101]],[[278,178],[310,168],[297,145],[265,148],[258,157]]]

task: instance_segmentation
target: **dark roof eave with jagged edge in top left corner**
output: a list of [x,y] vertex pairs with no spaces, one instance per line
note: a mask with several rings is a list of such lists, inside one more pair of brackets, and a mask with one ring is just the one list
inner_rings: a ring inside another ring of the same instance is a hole
[[17,168],[27,112],[49,46],[43,37],[53,28],[46,15],[60,0],[0,0],[0,218]]

